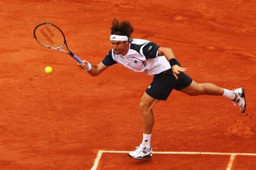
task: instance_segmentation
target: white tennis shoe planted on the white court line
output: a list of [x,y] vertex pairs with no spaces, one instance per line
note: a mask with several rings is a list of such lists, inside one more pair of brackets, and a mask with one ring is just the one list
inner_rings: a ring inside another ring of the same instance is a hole
[[128,155],[134,159],[148,159],[152,157],[152,147],[148,149],[143,144],[140,144],[140,146],[137,146],[134,151],[129,152]]

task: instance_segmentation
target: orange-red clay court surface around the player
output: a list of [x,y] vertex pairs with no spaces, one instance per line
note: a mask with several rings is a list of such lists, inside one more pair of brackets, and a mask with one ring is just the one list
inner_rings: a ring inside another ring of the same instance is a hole
[[[111,20],[134,38],[170,47],[196,82],[245,88],[247,110],[224,97],[173,91],[154,107],[152,159],[103,152],[97,169],[255,169],[256,2],[15,0],[0,2],[0,169],[91,169],[99,151],[131,151],[142,139],[140,97],[152,76],[116,64],[100,76],[40,46],[34,27],[52,22],[92,64],[111,48]],[[52,66],[46,74],[44,68]],[[228,164],[231,166],[228,167]]]

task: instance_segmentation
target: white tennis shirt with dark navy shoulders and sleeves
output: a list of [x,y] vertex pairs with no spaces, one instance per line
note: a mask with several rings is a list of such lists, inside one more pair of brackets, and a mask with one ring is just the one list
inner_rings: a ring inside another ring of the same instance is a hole
[[133,71],[155,75],[171,68],[164,55],[157,56],[160,48],[154,42],[133,39],[126,55],[116,55],[111,49],[101,63],[106,67],[120,63]]

